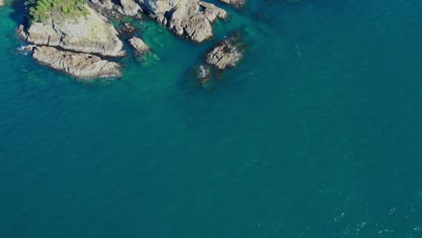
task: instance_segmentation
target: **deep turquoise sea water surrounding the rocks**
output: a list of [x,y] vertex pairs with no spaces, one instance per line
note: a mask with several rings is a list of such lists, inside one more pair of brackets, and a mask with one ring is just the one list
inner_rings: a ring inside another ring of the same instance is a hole
[[[138,23],[157,59],[84,83],[0,8],[0,237],[422,237],[422,3],[230,13],[203,45]],[[239,29],[239,67],[192,84]]]

